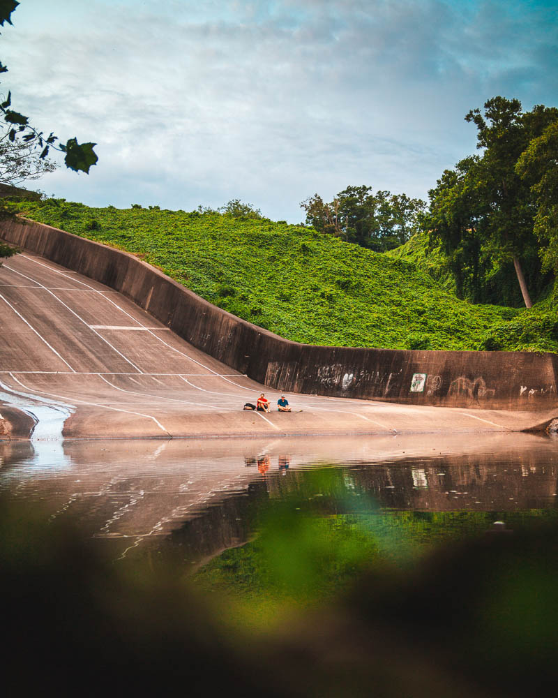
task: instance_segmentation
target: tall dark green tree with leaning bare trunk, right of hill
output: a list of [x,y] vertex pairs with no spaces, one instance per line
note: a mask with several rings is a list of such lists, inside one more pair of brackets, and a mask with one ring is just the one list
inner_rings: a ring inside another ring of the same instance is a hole
[[[525,262],[536,267],[534,198],[515,165],[529,142],[555,120],[558,110],[538,105],[522,112],[517,99],[494,97],[465,117],[477,127],[481,157],[465,158],[453,175],[444,173],[430,192],[425,225],[444,242],[448,253],[467,251],[469,262],[484,256],[497,266],[513,262],[525,306],[532,305],[524,274]],[[455,261],[455,259],[454,259]],[[540,267],[536,269],[536,272]],[[478,267],[477,267],[478,272]],[[478,295],[478,273],[473,283]]]

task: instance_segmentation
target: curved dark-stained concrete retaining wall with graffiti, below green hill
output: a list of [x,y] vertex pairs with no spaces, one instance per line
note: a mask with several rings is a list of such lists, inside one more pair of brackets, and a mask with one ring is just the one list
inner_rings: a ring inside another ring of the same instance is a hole
[[40,223],[8,221],[1,237],[133,299],[183,339],[288,392],[469,408],[558,405],[558,355],[311,346],[236,318],[135,256]]

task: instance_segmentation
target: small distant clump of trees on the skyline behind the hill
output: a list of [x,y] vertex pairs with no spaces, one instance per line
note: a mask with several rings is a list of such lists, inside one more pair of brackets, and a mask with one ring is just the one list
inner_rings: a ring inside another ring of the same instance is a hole
[[301,202],[306,223],[326,235],[383,252],[406,242],[416,231],[424,202],[370,186],[348,186],[331,202],[315,194]]

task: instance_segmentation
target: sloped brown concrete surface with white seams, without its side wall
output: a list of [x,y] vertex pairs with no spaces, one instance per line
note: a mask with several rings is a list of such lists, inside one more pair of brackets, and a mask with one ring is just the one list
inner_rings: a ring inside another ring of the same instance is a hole
[[0,305],[0,438],[29,438],[38,408],[54,414],[51,438],[58,428],[64,438],[505,432],[557,414],[294,392],[291,414],[244,412],[260,392],[276,406],[282,391],[206,355],[98,281],[26,252],[0,267]]

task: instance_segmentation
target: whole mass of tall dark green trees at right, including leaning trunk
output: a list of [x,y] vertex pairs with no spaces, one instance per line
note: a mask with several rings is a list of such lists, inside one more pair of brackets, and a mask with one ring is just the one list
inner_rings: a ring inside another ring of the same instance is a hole
[[[547,185],[556,170],[548,143],[536,154],[531,144],[557,123],[558,110],[537,105],[522,112],[520,101],[498,96],[485,102],[484,114],[475,109],[465,119],[476,125],[482,154],[443,172],[429,191],[423,230],[442,244],[460,297],[505,305],[518,305],[522,299],[531,307],[531,298],[541,295],[549,281],[541,274],[540,257],[545,259],[552,239],[548,202],[555,191]],[[518,170],[529,148],[529,165]],[[546,263],[545,269],[552,264]]]

